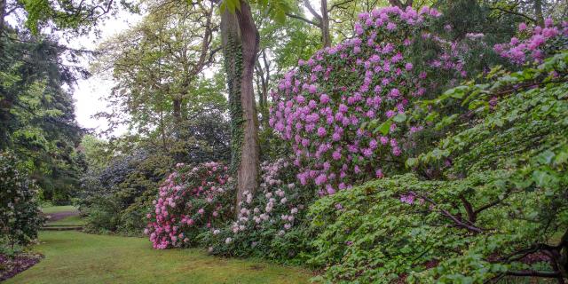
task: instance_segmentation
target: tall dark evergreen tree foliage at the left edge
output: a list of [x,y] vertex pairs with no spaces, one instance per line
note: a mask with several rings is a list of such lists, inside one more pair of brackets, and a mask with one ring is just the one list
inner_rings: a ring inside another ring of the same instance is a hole
[[75,122],[71,92],[83,70],[56,39],[38,39],[11,28],[0,37],[0,149],[12,149],[41,188],[43,199],[66,203],[85,168],[78,145],[83,130]]

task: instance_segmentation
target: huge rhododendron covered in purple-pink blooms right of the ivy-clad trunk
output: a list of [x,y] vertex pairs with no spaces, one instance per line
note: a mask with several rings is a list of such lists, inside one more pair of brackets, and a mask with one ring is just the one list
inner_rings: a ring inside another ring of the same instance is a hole
[[[409,139],[420,127],[400,123],[412,101],[440,87],[430,77],[467,73],[460,44],[427,32],[439,16],[398,7],[359,15],[355,37],[316,52],[288,72],[272,91],[270,125],[292,142],[301,185],[333,194],[385,168],[400,169]],[[415,67],[409,46],[429,41],[438,52]]]

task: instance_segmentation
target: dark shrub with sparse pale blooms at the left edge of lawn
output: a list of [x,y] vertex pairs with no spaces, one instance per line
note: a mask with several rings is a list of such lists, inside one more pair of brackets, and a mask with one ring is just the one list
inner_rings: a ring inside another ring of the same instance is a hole
[[38,188],[20,169],[18,159],[0,153],[0,244],[27,245],[43,225]]

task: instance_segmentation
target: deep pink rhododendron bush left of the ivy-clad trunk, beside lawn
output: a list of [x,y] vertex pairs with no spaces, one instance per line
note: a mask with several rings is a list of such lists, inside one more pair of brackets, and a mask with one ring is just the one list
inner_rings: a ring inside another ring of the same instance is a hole
[[206,162],[198,167],[177,164],[163,182],[145,233],[154,248],[195,244],[197,236],[233,217],[233,188],[227,167]]

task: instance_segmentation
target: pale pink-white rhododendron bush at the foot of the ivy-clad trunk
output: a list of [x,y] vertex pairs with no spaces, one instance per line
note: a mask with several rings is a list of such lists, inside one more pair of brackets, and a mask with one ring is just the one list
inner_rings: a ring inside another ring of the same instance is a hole
[[[264,162],[256,194],[245,193],[238,218],[209,230],[209,251],[225,256],[263,256],[280,261],[306,251],[305,210],[315,193],[296,186],[296,167],[285,159]],[[291,183],[288,183],[291,182]]]

